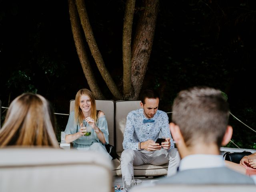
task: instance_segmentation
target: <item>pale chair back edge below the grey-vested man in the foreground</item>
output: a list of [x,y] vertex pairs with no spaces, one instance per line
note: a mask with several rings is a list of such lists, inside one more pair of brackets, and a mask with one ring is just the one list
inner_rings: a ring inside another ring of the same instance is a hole
[[158,184],[148,186],[135,186],[130,192],[156,192],[156,191],[177,191],[177,192],[255,192],[255,185],[243,184]]

